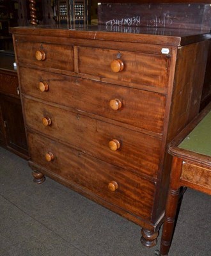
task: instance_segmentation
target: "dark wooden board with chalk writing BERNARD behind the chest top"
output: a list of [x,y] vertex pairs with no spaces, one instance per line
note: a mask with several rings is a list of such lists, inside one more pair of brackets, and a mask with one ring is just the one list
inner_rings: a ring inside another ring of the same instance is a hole
[[98,23],[210,31],[210,4],[99,4]]

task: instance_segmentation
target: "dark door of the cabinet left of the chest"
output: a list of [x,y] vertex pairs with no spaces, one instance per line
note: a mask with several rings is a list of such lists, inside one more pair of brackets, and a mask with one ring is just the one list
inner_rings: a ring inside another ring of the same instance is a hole
[[6,144],[9,148],[26,155],[26,133],[20,100],[3,96],[1,101]]

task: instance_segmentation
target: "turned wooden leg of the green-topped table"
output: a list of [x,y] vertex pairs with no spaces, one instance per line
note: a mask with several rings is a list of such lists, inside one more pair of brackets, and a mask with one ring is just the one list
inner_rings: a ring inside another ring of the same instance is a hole
[[171,180],[169,184],[168,200],[166,203],[166,212],[164,217],[164,227],[162,228],[162,237],[160,242],[160,256],[167,256],[173,232],[175,228],[176,210],[178,207],[178,200],[180,198],[180,173],[182,170],[182,160],[173,157],[171,167]]

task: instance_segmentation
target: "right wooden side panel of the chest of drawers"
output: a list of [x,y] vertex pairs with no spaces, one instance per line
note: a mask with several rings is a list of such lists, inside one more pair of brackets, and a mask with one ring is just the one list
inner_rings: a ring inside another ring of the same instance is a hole
[[182,47],[178,51],[169,140],[199,112],[209,44],[209,41],[199,42]]

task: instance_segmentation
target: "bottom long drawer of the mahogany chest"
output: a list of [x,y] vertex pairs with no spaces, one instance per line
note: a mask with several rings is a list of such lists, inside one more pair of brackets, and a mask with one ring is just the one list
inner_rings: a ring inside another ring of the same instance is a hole
[[[31,161],[55,173],[63,182],[75,183],[131,214],[150,220],[155,194],[152,181],[40,134],[29,133],[28,142]],[[49,152],[54,156],[51,161],[45,159]]]

